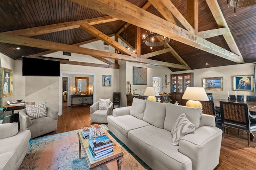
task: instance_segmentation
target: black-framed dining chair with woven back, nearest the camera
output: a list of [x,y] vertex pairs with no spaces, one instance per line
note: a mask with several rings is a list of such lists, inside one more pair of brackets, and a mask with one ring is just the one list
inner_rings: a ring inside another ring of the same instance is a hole
[[250,147],[250,134],[256,131],[256,121],[249,120],[249,112],[247,104],[232,103],[232,102],[220,102],[220,113],[223,123],[223,138],[225,133],[225,127],[232,127],[238,129],[238,135],[240,130],[247,132],[248,147]]

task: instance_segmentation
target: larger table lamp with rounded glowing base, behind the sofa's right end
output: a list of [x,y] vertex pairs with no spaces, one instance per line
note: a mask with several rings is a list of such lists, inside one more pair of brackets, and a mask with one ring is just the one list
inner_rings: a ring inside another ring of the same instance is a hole
[[199,107],[201,109],[203,106],[199,101],[209,101],[209,98],[202,87],[187,87],[182,99],[188,100],[188,102],[186,102],[186,106]]

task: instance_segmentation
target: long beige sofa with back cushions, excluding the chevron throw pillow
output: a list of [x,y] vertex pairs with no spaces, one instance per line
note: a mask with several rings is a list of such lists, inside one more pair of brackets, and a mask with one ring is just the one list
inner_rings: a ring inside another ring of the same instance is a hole
[[[176,146],[171,131],[182,113],[195,130]],[[133,98],[132,106],[115,108],[107,121],[108,129],[152,169],[212,170],[219,163],[222,130],[202,109]]]

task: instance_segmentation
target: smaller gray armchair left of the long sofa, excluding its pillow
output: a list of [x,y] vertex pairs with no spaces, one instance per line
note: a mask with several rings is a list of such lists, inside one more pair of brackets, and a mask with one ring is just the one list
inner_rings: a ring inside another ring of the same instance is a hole
[[107,117],[112,115],[113,103],[110,101],[107,110],[99,109],[100,102],[95,102],[92,106],[90,106],[91,113],[91,122],[92,123],[108,123]]

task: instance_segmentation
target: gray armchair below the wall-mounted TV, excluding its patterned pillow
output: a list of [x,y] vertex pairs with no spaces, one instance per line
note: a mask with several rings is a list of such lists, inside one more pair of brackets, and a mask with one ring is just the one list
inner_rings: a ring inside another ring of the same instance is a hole
[[30,130],[31,139],[55,131],[58,123],[58,111],[46,106],[47,116],[30,119],[26,109],[19,111],[20,131]]

